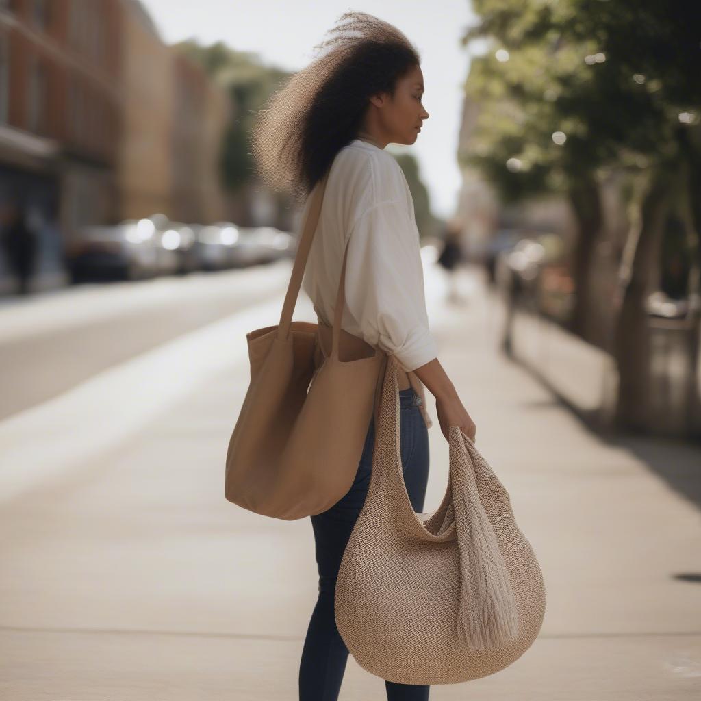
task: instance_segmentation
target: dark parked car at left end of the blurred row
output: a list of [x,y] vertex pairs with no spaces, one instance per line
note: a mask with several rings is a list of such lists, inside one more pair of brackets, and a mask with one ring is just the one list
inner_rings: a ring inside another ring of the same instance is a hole
[[72,283],[93,278],[137,280],[158,273],[155,228],[144,219],[83,226],[66,247]]

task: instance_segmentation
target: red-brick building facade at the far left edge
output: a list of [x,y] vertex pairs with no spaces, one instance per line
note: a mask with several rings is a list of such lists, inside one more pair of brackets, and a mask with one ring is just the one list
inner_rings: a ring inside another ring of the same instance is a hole
[[0,203],[25,212],[49,278],[66,232],[118,215],[120,15],[120,0],[0,1]]

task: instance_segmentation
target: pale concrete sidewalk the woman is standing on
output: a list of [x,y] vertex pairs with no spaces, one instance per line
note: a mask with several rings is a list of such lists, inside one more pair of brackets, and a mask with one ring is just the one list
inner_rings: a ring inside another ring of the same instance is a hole
[[[427,268],[431,327],[543,569],[547,612],[513,665],[434,686],[431,699],[697,699],[701,539],[687,495],[700,452],[592,435],[496,350],[501,306],[476,278],[464,283],[465,305],[444,306],[439,271]],[[302,299],[295,318],[313,318]],[[224,500],[226,445],[249,374],[234,355],[118,449],[4,507],[0,697],[297,699],[317,594],[311,523]],[[428,399],[426,511],[441,501],[448,465]],[[349,658],[341,700],[384,697],[383,681]]]

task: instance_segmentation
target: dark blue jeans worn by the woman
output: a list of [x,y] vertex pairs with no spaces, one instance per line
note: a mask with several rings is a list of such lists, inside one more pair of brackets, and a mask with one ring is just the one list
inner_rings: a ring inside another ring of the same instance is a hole
[[[400,390],[400,449],[404,484],[415,512],[423,512],[428,483],[428,428],[418,408],[414,388]],[[319,596],[309,621],[299,665],[299,701],[336,701],[346,671],[348,648],[334,614],[336,576],[343,550],[365,503],[375,444],[374,417],[365,437],[358,472],[351,489],[331,508],[311,517]],[[389,701],[426,701],[430,686],[385,681]]]

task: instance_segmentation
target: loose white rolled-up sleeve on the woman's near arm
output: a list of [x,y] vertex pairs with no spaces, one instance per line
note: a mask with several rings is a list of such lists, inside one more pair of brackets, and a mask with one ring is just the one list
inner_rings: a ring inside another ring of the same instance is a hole
[[405,371],[437,358],[423,287],[418,230],[405,203],[374,205],[351,227],[346,306],[365,339]]

